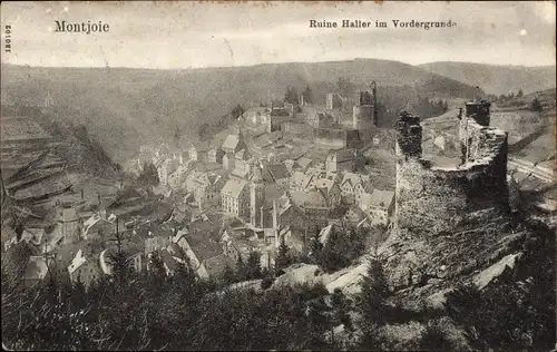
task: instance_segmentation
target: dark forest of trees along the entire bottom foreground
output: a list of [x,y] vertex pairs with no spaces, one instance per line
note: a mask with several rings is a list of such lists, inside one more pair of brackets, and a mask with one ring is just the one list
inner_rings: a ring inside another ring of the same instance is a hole
[[[462,350],[447,333],[449,321],[463,330],[466,348],[547,351],[555,344],[554,242],[539,228],[501,282],[457,287],[446,309],[419,311],[393,304],[397,292],[374,252],[360,293],[349,296],[321,283],[231,290],[223,277],[199,280],[183,264],[167,275],[156,253],[149,272],[137,274],[121,251],[111,256],[114,275],[90,287],[53,272],[29,289],[20,280],[25,247],[16,247],[2,255],[2,342],[17,350]],[[242,280],[265,275],[256,260],[238,265]],[[409,322],[423,330],[402,345],[385,333]]]

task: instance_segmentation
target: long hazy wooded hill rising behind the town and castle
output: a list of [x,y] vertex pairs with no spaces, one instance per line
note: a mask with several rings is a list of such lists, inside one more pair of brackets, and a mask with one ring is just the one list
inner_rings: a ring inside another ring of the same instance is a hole
[[[315,100],[338,89],[339,77],[361,88],[403,87],[401,96],[471,97],[476,89],[421,68],[389,60],[355,59],[317,63],[149,70],[127,68],[42,68],[2,65],[2,102],[41,105],[48,92],[60,123],[87,126],[117,162],[141,144],[185,147],[203,123],[217,124],[235,105],[281,99],[286,86],[306,85]],[[223,126],[224,127],[224,126]]]

